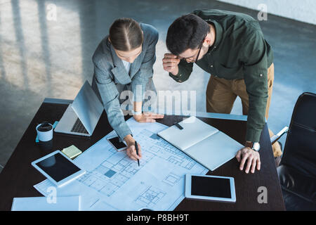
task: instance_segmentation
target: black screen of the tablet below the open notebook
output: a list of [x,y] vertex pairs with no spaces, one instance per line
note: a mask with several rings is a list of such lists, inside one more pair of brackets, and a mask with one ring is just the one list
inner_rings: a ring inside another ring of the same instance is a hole
[[207,176],[191,176],[191,195],[232,198],[230,179]]

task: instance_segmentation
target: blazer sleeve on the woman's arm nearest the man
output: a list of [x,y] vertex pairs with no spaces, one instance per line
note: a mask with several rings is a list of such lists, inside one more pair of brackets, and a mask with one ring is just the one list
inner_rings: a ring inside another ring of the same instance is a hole
[[136,102],[143,101],[145,98],[146,84],[154,73],[152,68],[156,61],[156,44],[159,34],[154,28],[150,32],[150,40],[148,41],[147,50],[145,50],[143,63],[131,82],[131,91],[133,91],[134,101]]

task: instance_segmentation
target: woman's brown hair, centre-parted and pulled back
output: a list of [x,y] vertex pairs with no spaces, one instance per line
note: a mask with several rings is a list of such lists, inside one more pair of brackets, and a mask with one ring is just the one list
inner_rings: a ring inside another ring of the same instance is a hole
[[110,27],[110,41],[114,49],[131,51],[143,44],[140,25],[131,18],[119,18]]

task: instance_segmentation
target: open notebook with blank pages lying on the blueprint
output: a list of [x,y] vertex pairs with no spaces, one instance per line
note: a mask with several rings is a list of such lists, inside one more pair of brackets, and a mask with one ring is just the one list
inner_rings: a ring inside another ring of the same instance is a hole
[[158,136],[211,171],[234,158],[237,151],[244,147],[197,117],[189,117],[178,124],[183,129],[173,125],[160,131]]

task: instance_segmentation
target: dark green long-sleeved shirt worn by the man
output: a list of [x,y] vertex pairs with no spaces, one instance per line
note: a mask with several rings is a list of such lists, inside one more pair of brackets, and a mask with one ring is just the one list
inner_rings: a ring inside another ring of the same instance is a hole
[[[216,40],[197,65],[211,75],[224,79],[244,79],[249,95],[246,141],[258,142],[265,124],[268,99],[268,68],[273,61],[270,45],[265,41],[257,20],[249,15],[221,10],[193,12],[214,25]],[[185,82],[193,63],[181,60],[178,75],[169,75]]]

